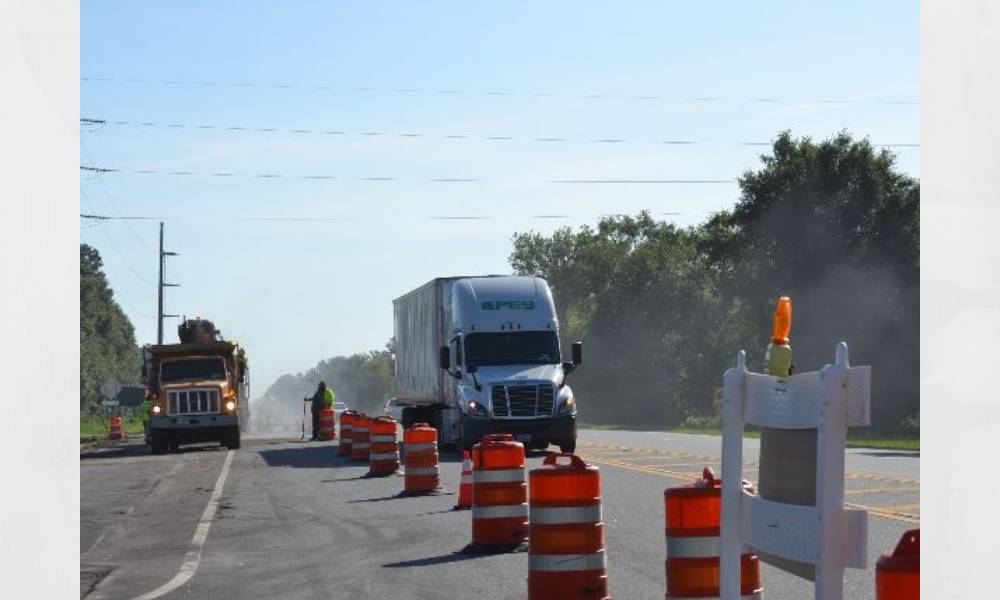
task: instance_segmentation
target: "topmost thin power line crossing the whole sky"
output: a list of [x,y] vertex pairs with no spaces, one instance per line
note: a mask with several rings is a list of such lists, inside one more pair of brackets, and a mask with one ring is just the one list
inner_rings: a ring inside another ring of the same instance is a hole
[[687,95],[677,96],[670,94],[611,94],[611,93],[580,93],[580,92],[552,92],[536,90],[528,92],[518,92],[512,90],[465,90],[457,88],[414,88],[414,87],[363,87],[363,86],[332,86],[315,84],[288,84],[288,83],[263,83],[263,82],[237,82],[223,80],[203,80],[185,81],[178,79],[146,79],[146,78],[115,78],[115,77],[81,77],[84,83],[128,83],[128,84],[150,84],[166,86],[192,86],[192,87],[230,87],[230,88],[258,88],[258,89],[283,89],[309,92],[335,92],[352,94],[399,94],[399,95],[434,95],[434,96],[507,96],[512,98],[582,98],[587,100],[636,100],[643,102],[744,102],[750,104],[882,104],[887,106],[919,106],[920,103],[914,100],[850,100],[846,98],[778,98],[771,96],[746,96],[742,98],[712,96],[712,95]]

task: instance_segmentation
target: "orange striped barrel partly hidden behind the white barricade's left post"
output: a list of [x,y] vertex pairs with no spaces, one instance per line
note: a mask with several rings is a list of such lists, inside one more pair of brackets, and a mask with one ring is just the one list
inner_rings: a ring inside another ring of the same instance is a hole
[[[749,482],[744,487],[752,491]],[[719,596],[719,523],[722,515],[722,480],[706,468],[702,478],[663,492],[667,521],[667,594],[674,598]],[[755,554],[740,557],[740,598],[761,596],[760,560]]]

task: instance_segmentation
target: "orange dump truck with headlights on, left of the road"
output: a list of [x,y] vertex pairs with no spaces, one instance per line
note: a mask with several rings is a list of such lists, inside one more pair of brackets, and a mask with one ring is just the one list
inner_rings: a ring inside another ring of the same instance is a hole
[[177,333],[180,343],[143,347],[146,443],[155,454],[205,442],[239,448],[250,417],[246,352],[205,319],[186,319]]

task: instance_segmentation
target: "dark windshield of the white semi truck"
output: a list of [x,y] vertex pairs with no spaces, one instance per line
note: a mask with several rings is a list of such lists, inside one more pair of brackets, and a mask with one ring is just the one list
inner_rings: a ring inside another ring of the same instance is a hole
[[554,365],[559,363],[559,338],[554,331],[471,333],[465,336],[465,366]]

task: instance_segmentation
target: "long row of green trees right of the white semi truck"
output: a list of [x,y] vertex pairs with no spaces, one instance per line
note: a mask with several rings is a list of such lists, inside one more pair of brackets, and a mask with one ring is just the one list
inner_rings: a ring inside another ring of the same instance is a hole
[[779,296],[793,303],[795,369],[833,362],[846,341],[872,366],[878,432],[919,430],[919,182],[894,156],[840,133],[788,132],[738,180],[740,196],[696,227],[649,213],[551,235],[516,233],[510,263],[545,277],[581,419],[682,425],[717,419],[722,373],[763,354]]

